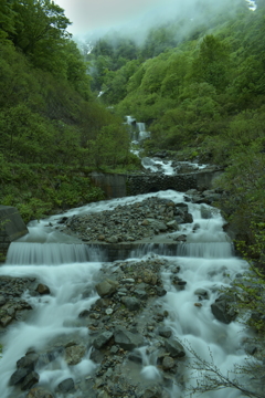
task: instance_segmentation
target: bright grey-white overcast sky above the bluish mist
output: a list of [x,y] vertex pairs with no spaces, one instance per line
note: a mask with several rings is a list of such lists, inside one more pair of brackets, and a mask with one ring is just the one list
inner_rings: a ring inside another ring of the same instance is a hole
[[73,34],[85,34],[97,29],[132,24],[149,20],[182,6],[187,0],[55,0],[73,22],[67,29]]

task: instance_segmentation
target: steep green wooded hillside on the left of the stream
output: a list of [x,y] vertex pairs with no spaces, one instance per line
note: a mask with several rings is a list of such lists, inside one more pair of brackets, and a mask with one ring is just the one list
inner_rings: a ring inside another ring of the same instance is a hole
[[0,202],[25,220],[102,198],[84,172],[137,161],[123,119],[93,95],[68,24],[53,1],[0,2]]

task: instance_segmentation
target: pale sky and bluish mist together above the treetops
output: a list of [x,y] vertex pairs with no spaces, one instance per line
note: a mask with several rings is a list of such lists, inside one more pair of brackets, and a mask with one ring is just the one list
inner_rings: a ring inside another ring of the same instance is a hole
[[[245,0],[248,7],[254,1]],[[123,33],[137,42],[147,31],[173,19],[208,23],[209,15],[231,13],[244,0],[55,0],[73,22],[68,31],[76,41],[94,41],[106,33]],[[254,3],[255,4],[255,3]]]

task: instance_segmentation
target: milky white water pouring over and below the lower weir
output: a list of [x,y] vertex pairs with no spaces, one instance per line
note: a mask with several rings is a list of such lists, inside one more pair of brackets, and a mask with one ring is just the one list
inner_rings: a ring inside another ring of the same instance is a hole
[[[176,203],[184,201],[183,193],[169,190],[92,203],[72,209],[63,216],[114,209],[116,206],[141,201],[150,196],[168,198]],[[223,219],[215,209],[208,207],[211,218],[204,219],[201,205],[188,202],[188,206],[189,212],[193,214],[193,222],[182,224],[181,230],[178,231],[178,234],[188,235],[187,242],[180,244],[178,251],[167,258],[173,266],[176,264],[180,266],[178,275],[187,281],[187,285],[182,291],[176,290],[170,282],[171,271],[168,269],[162,272],[168,293],[159,300],[170,313],[166,325],[172,329],[174,336],[188,342],[202,358],[211,359],[212,355],[215,365],[226,374],[233,364],[242,363],[245,357],[242,349],[244,336],[237,323],[232,322],[226,325],[216,321],[211,312],[211,304],[218,297],[219,289],[229,286],[231,279],[242,273],[247,264],[234,256],[230,239],[222,229]],[[30,349],[45,352],[56,344],[62,346],[62,343],[65,344],[72,338],[75,341],[78,338],[80,342],[89,341],[88,329],[80,324],[78,314],[83,310],[88,310],[97,300],[95,284],[98,282],[102,262],[106,259],[102,256],[100,251],[88,250],[78,240],[60,233],[56,227],[61,217],[62,214],[54,216],[40,223],[32,222],[29,226],[29,235],[11,244],[7,262],[0,268],[0,275],[36,277],[51,290],[51,295],[42,297],[26,293],[24,300],[33,307],[29,318],[25,322],[13,323],[1,336],[3,345],[0,360],[1,398],[25,396],[25,392],[18,392],[10,387],[9,379],[15,370],[17,360]],[[70,242],[74,243],[70,244]],[[140,261],[151,251],[152,247],[146,245],[141,250],[132,251],[130,258]],[[153,251],[157,255],[168,254],[162,245]],[[198,290],[204,290],[209,297],[201,302],[201,307],[194,305],[199,300]],[[141,355],[144,358],[141,376],[158,380],[160,374],[156,366],[156,356],[148,357],[145,347],[141,348]],[[47,364],[36,371],[40,374],[40,384],[54,389],[60,381],[68,377],[74,380],[88,377],[94,369],[95,364],[89,359],[88,350],[82,363],[76,366],[67,366],[59,353],[52,366]],[[189,379],[189,373],[186,377]],[[174,386],[171,397],[180,396],[182,396],[181,391]],[[205,394],[205,397],[210,398],[237,396],[239,392],[232,389]]]

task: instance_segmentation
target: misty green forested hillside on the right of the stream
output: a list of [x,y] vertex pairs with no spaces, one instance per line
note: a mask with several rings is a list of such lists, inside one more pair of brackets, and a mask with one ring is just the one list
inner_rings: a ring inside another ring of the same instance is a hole
[[247,251],[258,241],[263,258],[265,1],[256,6],[194,2],[190,14],[152,28],[141,43],[105,35],[87,60],[102,102],[147,123],[147,151],[226,167],[219,184],[231,195],[220,206]]

